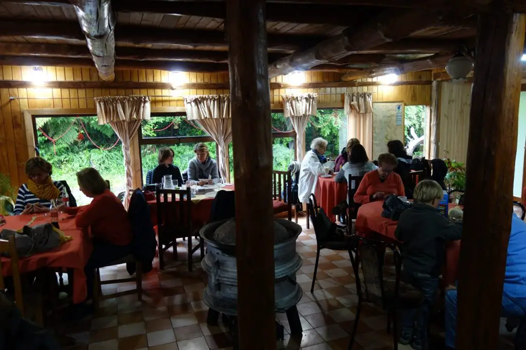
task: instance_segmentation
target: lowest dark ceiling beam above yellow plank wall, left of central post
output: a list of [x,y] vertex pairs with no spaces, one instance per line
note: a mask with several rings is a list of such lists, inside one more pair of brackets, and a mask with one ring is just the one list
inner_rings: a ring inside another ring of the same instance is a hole
[[[0,56],[0,65],[93,67],[93,61],[86,58]],[[134,61],[123,59],[115,61],[115,69],[160,69],[168,71],[227,73],[228,64],[204,62]]]

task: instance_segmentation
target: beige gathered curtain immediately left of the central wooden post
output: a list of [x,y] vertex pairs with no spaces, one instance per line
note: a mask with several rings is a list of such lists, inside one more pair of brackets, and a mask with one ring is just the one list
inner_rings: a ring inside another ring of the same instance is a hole
[[219,172],[227,181],[230,175],[228,144],[232,141],[230,95],[186,96],[185,107],[188,120],[195,120],[217,142]]

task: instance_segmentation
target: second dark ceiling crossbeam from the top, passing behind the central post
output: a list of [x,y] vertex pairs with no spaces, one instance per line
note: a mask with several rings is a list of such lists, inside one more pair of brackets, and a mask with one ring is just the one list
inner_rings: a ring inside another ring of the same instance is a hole
[[[1,20],[0,37],[23,36],[46,39],[84,40],[82,30],[74,22],[50,22],[31,20]],[[288,52],[307,48],[326,37],[304,35],[268,34],[270,49]],[[135,45],[180,45],[226,47],[225,34],[216,30],[165,29],[141,26],[118,26],[115,41]]]

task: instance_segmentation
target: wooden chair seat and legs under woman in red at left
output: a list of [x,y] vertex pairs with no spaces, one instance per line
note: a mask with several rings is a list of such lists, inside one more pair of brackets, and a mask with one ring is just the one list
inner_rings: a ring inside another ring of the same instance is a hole
[[[129,277],[126,279],[107,280],[107,281],[100,280],[100,269],[102,269],[102,267],[127,264],[127,263],[135,263],[135,269],[136,269],[135,277]],[[143,300],[143,266],[140,263],[140,261],[135,259],[135,256],[133,254],[128,254],[124,256],[124,258],[122,259],[118,259],[107,265],[97,267],[97,269],[95,269],[94,271],[94,274],[95,274],[95,278],[93,281],[93,305],[95,307],[95,310],[99,309],[100,301],[111,299],[111,298],[116,298],[116,297],[123,296],[123,295],[137,293],[138,300],[139,301]],[[103,284],[115,284],[115,283],[126,283],[126,282],[135,282],[137,285],[137,289],[102,295],[102,285]]]

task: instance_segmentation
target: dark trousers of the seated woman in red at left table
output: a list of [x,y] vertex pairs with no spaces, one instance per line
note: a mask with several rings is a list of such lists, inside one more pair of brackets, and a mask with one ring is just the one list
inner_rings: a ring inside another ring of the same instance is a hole
[[126,255],[131,254],[131,244],[129,245],[115,245],[107,243],[93,242],[93,252],[89,256],[88,263],[84,266],[84,273],[86,274],[86,286],[88,289],[88,295],[86,300],[90,300],[93,297],[93,282],[94,282],[94,271],[97,267],[106,266],[115,260],[124,258]]

